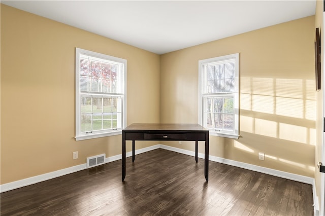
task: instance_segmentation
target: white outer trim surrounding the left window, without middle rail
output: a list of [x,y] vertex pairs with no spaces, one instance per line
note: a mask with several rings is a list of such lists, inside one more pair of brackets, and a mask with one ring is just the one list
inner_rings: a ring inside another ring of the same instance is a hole
[[[122,126],[120,129],[112,130],[109,132],[97,132],[97,133],[90,133],[90,134],[81,134],[80,132],[80,83],[79,83],[79,54],[86,54],[91,55],[94,57],[99,58],[105,58],[112,61],[120,62],[124,64],[124,75],[123,75],[123,97],[122,97]],[[89,50],[84,50],[80,48],[76,48],[76,136],[75,139],[77,141],[79,140],[85,140],[85,139],[93,139],[93,138],[100,138],[100,137],[106,137],[106,136],[113,136],[113,135],[119,135],[122,134],[122,129],[126,127],[126,71],[127,71],[127,60],[122,58],[117,58],[114,56],[109,56],[101,53],[92,52]]]

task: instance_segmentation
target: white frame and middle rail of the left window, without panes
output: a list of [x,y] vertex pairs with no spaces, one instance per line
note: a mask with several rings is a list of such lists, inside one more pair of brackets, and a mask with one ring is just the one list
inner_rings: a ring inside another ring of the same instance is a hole
[[[98,130],[98,131],[90,131],[90,132],[81,132],[81,97],[89,96],[93,98],[103,97],[101,93],[81,93],[80,90],[80,54],[84,54],[87,56],[92,56],[96,58],[102,58],[109,61],[114,61],[118,63],[122,63],[124,65],[124,70],[122,73],[122,93],[105,93],[104,97],[112,96],[112,97],[120,97],[121,98],[121,121],[118,123],[120,125],[119,128],[112,128],[106,130]],[[84,50],[80,48],[76,48],[76,140],[84,140],[84,139],[92,139],[99,138],[105,136],[118,135],[122,133],[122,129],[126,126],[126,66],[127,61],[122,58],[117,58],[114,56],[109,56],[101,53],[92,52],[89,50]]]

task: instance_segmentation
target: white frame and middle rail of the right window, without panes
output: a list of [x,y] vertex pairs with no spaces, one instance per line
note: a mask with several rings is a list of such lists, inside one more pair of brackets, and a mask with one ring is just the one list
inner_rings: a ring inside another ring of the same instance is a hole
[[[233,93],[214,93],[214,94],[205,94],[203,92],[203,76],[204,76],[204,65],[212,62],[226,61],[230,59],[235,59],[235,91]],[[214,57],[209,59],[204,59],[199,61],[199,124],[205,127],[206,123],[204,120],[204,109],[205,109],[205,98],[215,97],[215,96],[225,96],[233,95],[234,96],[234,129],[233,131],[219,131],[212,128],[209,129],[210,135],[221,136],[228,138],[239,138],[239,53]]]

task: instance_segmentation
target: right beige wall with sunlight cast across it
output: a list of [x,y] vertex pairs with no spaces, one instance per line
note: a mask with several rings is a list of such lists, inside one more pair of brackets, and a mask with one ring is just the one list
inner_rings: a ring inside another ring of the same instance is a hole
[[[198,61],[240,53],[240,138],[210,136],[210,155],[314,176],[314,16],[160,57],[160,122],[198,122]],[[193,143],[166,142],[193,150]],[[203,143],[199,150],[203,153]],[[264,152],[265,161],[258,160]]]

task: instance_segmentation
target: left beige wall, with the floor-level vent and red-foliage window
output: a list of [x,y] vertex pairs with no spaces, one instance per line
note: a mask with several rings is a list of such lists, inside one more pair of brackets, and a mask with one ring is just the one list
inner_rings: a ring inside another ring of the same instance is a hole
[[121,135],[74,138],[76,47],[126,59],[127,124],[159,122],[159,55],[1,5],[1,184],[121,154]]

